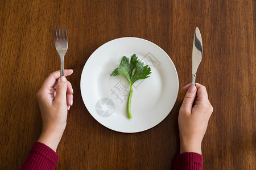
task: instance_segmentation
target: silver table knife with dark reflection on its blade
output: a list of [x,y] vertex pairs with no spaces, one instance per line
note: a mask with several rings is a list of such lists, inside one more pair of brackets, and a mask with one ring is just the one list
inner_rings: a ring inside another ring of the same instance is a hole
[[199,28],[196,27],[192,50],[192,84],[196,84],[196,71],[203,57],[203,44]]

